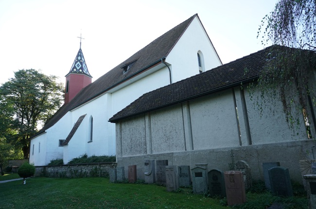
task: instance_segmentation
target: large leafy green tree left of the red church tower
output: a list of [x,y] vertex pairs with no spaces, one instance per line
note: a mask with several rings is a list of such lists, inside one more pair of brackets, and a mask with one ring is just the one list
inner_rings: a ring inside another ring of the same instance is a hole
[[38,124],[46,122],[62,103],[63,85],[56,79],[34,69],[18,70],[0,87],[0,104],[7,107],[11,129],[15,130],[7,139],[22,149],[24,158],[29,157],[29,139]]

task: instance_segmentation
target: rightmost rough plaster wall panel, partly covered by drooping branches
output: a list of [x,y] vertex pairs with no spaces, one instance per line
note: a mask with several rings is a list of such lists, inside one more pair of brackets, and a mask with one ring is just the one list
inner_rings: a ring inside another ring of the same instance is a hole
[[302,112],[297,116],[300,119],[298,129],[291,130],[285,120],[281,101],[257,97],[259,93],[254,88],[250,93],[245,91],[252,144],[307,139]]

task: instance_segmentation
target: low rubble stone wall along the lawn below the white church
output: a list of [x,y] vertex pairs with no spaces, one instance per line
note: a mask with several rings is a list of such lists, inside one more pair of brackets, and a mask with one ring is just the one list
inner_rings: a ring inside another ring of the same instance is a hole
[[35,176],[54,178],[109,177],[111,168],[116,168],[115,162],[35,166]]

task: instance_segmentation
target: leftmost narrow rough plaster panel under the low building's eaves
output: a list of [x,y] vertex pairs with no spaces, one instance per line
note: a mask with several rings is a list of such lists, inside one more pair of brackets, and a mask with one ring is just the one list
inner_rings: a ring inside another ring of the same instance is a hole
[[146,154],[145,120],[133,117],[122,124],[122,153],[123,156]]

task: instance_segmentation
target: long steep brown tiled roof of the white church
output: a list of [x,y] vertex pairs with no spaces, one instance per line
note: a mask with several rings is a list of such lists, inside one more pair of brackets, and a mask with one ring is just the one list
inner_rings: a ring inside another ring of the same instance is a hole
[[[169,52],[176,45],[181,35],[185,32],[187,27],[190,25],[194,17],[198,17],[197,14],[193,15],[189,19],[180,23],[170,31],[161,35],[153,42],[142,48],[140,51],[133,54],[131,57],[126,59],[124,62],[119,64],[114,69],[108,71],[99,79],[83,88],[68,104],[64,104],[61,108],[53,115],[53,117],[45,123],[44,127],[37,132],[32,138],[42,134],[48,128],[52,127],[58,122],[68,111],[88,102],[89,100],[99,96],[107,90],[123,83],[130,79],[136,74],[150,68],[151,66],[160,62],[161,58],[165,58]],[[122,67],[133,61],[136,62],[134,65],[123,74]],[[105,69],[106,70],[106,69]]]

